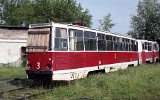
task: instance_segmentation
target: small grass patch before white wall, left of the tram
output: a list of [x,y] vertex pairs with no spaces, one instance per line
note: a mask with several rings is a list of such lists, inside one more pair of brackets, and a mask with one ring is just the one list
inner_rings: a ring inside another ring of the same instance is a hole
[[0,66],[0,80],[25,77],[24,67],[13,67],[9,65]]

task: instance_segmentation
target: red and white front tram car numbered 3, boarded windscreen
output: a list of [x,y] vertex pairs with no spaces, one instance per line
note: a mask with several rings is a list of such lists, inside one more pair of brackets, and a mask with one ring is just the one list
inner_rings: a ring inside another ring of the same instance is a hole
[[[32,24],[28,32],[28,78],[74,80],[91,71],[111,72],[137,66],[143,58],[139,40],[86,27]],[[152,42],[151,42],[152,43]],[[153,45],[156,42],[152,43]],[[157,50],[157,49],[156,49]],[[154,52],[157,60],[157,53]]]

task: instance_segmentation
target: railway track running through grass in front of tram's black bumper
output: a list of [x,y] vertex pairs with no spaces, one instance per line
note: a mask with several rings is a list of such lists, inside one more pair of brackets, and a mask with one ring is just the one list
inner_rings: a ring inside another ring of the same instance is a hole
[[28,82],[27,79],[0,81],[0,100],[26,100],[28,98],[52,91],[42,83]]

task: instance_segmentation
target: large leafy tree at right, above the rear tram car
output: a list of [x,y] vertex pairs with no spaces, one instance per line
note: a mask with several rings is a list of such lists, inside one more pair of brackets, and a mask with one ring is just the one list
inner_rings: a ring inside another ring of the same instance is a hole
[[142,0],[137,6],[137,15],[131,18],[128,35],[147,40],[160,37],[160,3],[158,0]]

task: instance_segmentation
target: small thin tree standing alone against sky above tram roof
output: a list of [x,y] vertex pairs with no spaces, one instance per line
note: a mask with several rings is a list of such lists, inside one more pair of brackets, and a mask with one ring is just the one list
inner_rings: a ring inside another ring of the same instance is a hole
[[110,29],[115,26],[115,23],[112,23],[111,13],[108,13],[102,20],[99,20],[100,29],[104,31],[110,31]]

